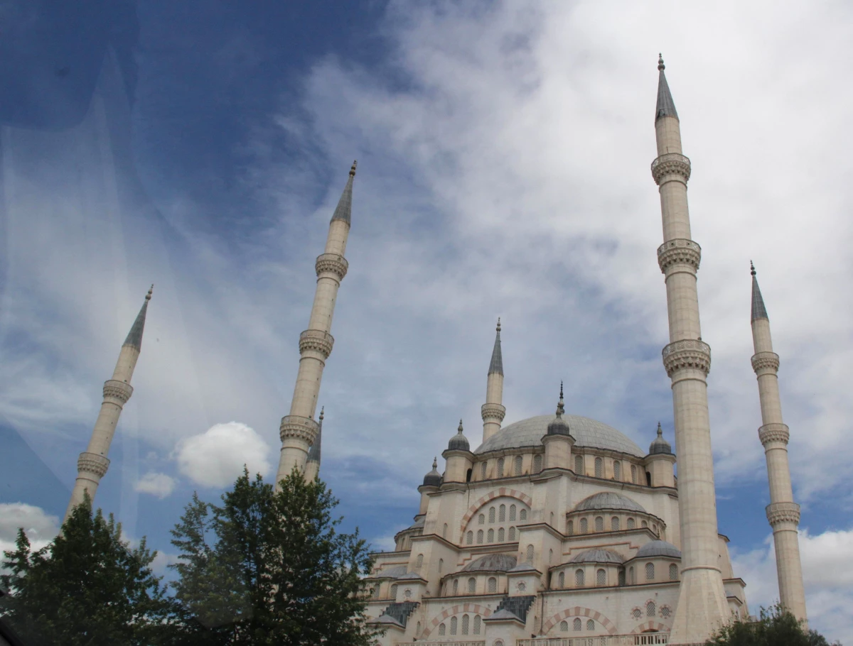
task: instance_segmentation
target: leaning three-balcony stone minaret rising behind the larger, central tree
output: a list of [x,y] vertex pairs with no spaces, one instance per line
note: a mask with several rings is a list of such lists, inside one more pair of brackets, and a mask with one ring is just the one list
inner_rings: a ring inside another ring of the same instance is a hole
[[340,281],[344,280],[348,263],[344,257],[346,239],[350,234],[352,212],[352,180],[356,176],[356,162],[352,162],[350,179],[346,182],[332,222],[328,225],[326,250],[317,256],[317,287],[308,329],[299,334],[299,372],[293,388],[290,414],[281,418],[281,459],[276,473],[276,486],[293,470],[305,470],[308,450],[314,443],[320,427],[314,421],[317,395],[320,392],[322,369],[332,352],[334,302],[338,297]]

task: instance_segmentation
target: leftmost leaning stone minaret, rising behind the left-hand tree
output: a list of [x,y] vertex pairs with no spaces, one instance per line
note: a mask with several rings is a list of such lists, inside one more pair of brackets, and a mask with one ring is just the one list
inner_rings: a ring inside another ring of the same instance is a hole
[[90,500],[95,500],[98,483],[107,474],[109,445],[113,442],[113,435],[115,435],[116,424],[119,424],[121,410],[133,394],[131,377],[133,377],[133,369],[136,367],[136,360],[139,359],[139,352],[142,349],[142,331],[145,329],[145,315],[148,314],[148,301],[151,300],[152,291],[154,291],[153,285],[148,290],[148,294],[145,295],[142,309],[139,310],[139,314],[136,314],[131,332],[128,332],[125,343],[121,346],[119,360],[115,365],[115,370],[113,370],[113,378],[104,382],[104,399],[101,404],[101,411],[98,412],[89,447],[80,453],[80,457],[77,459],[77,481],[74,482],[71,500],[68,502],[68,509],[62,522],[71,516],[74,507],[83,502],[85,492],[89,493]]

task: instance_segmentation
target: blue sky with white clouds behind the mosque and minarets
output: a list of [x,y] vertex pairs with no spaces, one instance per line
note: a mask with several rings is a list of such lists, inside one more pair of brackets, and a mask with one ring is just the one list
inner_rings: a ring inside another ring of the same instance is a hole
[[[321,476],[375,549],[479,407],[673,442],[653,113],[693,176],[719,528],[778,596],[749,261],[781,357],[809,620],[853,642],[853,8],[837,2],[146,3],[0,9],[0,545],[49,540],[154,297],[96,504],[174,560],[193,491],[274,476],[314,258],[358,159]],[[439,469],[441,467],[439,466]],[[38,544],[38,543],[37,543]]]

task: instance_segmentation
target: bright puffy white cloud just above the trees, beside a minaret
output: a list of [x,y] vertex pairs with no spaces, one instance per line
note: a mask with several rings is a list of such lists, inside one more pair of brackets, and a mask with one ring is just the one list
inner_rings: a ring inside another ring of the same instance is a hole
[[215,424],[178,442],[175,458],[181,473],[203,487],[228,486],[244,464],[250,474],[270,471],[270,446],[240,422]]

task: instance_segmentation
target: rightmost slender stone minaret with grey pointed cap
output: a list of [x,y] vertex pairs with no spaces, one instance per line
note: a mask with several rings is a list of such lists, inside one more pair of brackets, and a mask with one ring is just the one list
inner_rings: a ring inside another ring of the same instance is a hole
[[752,274],[752,370],[758,378],[758,398],[761,401],[762,427],[758,439],[764,446],[767,458],[767,476],[770,481],[770,504],[767,520],[773,528],[776,548],[776,574],[779,577],[779,598],[786,609],[798,620],[806,621],[803,568],[799,557],[799,505],[794,502],[791,489],[791,470],[788,467],[788,427],[782,423],[779,400],[779,355],[773,351],[770,338],[770,320],[755,267],[750,262]]

